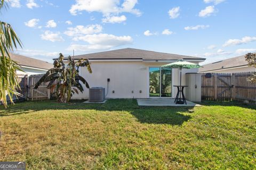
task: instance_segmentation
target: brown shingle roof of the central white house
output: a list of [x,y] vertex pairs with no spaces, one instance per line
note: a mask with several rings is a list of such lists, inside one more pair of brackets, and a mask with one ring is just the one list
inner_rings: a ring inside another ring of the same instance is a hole
[[[124,48],[117,50],[110,50],[107,52],[91,53],[84,55],[76,55],[75,59],[87,58],[89,60],[122,60],[122,59],[140,59],[140,60],[179,60],[179,59],[191,59],[191,60],[205,60],[205,58],[177,55],[169,53],[152,52],[149,50]],[[67,57],[65,57],[67,59]]]

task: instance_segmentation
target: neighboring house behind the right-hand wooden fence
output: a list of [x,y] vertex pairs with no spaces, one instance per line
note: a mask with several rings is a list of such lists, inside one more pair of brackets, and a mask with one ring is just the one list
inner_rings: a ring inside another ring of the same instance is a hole
[[245,55],[205,64],[199,69],[200,73],[240,73],[254,71],[256,71],[255,67],[249,67],[245,61]]

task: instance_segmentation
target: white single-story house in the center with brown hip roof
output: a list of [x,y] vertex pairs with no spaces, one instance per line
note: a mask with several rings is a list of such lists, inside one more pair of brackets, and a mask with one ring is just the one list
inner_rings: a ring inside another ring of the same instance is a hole
[[[179,85],[180,72],[178,69],[162,69],[161,66],[180,59],[196,64],[205,61],[200,57],[134,48],[76,55],[74,58],[89,59],[92,74],[85,67],[80,68],[79,74],[89,82],[90,87],[105,88],[106,98],[174,98],[177,89],[173,85]],[[182,84],[186,84],[185,73],[189,72],[198,72],[198,69],[182,69]],[[73,98],[88,98],[89,90],[84,89],[83,94],[74,95]]]

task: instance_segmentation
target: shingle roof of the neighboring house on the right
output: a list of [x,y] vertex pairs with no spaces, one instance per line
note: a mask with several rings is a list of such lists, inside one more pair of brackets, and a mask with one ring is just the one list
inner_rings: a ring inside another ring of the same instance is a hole
[[199,72],[209,72],[214,70],[221,69],[231,69],[234,67],[246,66],[248,63],[245,61],[245,55],[228,58],[227,60],[222,60],[210,64],[202,65],[202,68],[199,68]]

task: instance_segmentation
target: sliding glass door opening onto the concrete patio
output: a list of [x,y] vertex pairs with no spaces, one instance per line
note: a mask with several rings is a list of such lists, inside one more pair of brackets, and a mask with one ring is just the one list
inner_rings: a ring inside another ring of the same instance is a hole
[[172,70],[149,67],[149,97],[172,97]]

